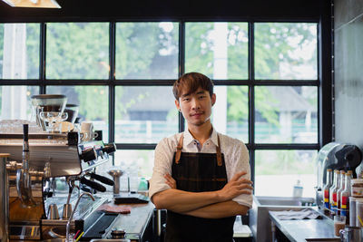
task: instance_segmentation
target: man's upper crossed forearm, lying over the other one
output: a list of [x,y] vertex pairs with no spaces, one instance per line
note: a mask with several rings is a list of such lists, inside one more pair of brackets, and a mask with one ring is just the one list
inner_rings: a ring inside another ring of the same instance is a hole
[[166,189],[153,195],[152,202],[158,209],[185,213],[221,202],[221,198],[216,191],[189,192],[180,189]]

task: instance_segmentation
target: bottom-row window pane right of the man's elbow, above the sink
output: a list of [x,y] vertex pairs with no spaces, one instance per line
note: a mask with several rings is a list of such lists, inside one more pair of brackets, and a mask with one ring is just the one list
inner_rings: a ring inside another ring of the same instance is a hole
[[300,181],[302,197],[315,198],[317,150],[256,150],[257,196],[292,197]]

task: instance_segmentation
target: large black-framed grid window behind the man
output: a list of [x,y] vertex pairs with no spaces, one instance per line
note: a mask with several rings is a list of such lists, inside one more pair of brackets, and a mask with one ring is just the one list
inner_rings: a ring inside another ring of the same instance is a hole
[[116,142],[110,166],[150,178],[156,144],[185,129],[172,83],[201,72],[215,83],[214,127],[250,150],[255,194],[289,197],[300,179],[314,197],[318,39],[317,23],[0,24],[1,118],[31,119],[31,95],[65,94]]

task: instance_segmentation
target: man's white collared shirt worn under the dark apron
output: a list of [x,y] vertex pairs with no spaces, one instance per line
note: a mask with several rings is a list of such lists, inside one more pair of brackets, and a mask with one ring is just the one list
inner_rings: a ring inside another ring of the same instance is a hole
[[[174,134],[172,137],[162,139],[156,146],[152,179],[150,179],[150,198],[157,192],[171,189],[165,183],[164,175],[167,173],[172,175],[172,158],[181,136],[182,133]],[[230,180],[234,174],[240,171],[246,171],[247,174],[243,178],[250,179],[250,156],[245,144],[240,140],[221,133],[218,133],[218,136],[221,141],[221,153],[224,154],[227,180]],[[214,129],[211,133],[211,138],[206,140],[202,147],[192,137],[190,131],[184,131],[182,152],[215,153],[217,145],[217,131]],[[252,206],[252,195],[250,194],[242,194],[232,200],[249,208]]]

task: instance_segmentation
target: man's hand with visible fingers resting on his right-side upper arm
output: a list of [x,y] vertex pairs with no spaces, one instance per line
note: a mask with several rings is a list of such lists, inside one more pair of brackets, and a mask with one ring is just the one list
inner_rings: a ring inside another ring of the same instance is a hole
[[221,201],[231,200],[240,194],[252,193],[252,181],[250,181],[250,179],[241,179],[241,177],[246,174],[246,171],[236,173],[233,178],[223,187],[223,189],[217,191]]

